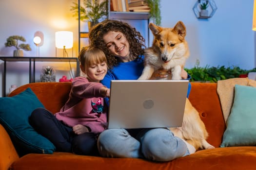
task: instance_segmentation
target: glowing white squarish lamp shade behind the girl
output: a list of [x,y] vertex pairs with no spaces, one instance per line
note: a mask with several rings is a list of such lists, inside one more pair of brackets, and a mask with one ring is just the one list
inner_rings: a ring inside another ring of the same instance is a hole
[[73,32],[58,31],[55,33],[55,46],[58,49],[71,49],[73,47]]

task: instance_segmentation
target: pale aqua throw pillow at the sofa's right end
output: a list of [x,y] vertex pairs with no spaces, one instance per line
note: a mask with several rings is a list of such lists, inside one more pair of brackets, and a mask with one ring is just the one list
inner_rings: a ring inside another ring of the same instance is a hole
[[256,87],[235,85],[235,97],[220,147],[256,145]]

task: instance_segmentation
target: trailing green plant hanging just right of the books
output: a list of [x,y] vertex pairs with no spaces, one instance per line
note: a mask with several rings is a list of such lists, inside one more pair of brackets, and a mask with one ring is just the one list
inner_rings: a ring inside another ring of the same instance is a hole
[[147,0],[150,8],[149,15],[153,19],[153,23],[160,26],[161,24],[161,13],[160,13],[160,0]]

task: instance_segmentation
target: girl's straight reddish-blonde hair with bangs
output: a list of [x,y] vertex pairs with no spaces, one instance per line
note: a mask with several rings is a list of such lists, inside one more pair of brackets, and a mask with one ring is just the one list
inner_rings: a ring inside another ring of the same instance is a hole
[[92,46],[83,47],[82,50],[79,52],[78,58],[79,58],[80,65],[83,68],[90,67],[93,64],[98,64],[103,62],[107,63],[107,58],[104,52]]

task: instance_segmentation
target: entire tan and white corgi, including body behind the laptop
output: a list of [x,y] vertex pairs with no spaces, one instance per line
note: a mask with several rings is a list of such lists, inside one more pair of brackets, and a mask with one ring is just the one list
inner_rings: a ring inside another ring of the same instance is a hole
[[[145,68],[138,80],[150,79],[160,68],[171,70],[172,80],[181,80],[180,72],[189,57],[185,25],[178,21],[174,28],[162,28],[150,23],[149,28],[154,35],[153,45],[145,50]],[[170,130],[175,136],[193,145],[196,150],[214,148],[206,141],[208,133],[205,125],[188,99],[186,99],[182,127],[170,128]]]

